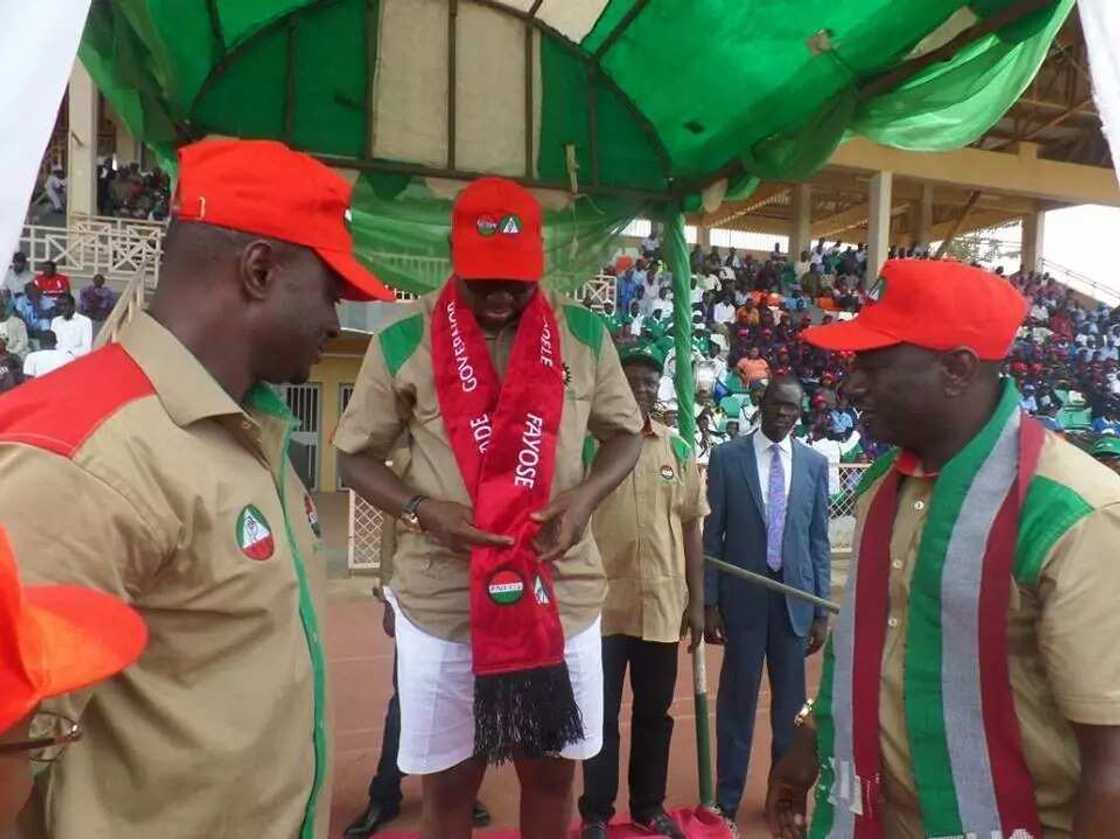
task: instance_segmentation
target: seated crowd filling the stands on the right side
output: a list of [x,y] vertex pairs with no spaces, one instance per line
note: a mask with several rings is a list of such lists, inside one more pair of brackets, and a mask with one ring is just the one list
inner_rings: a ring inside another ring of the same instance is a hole
[[[930,255],[918,249],[889,253],[890,259]],[[618,306],[608,305],[604,314],[619,344],[660,342],[668,351],[660,401],[673,421],[673,290],[661,257],[660,241],[651,234],[641,244],[641,257],[622,257],[605,269],[616,276]],[[874,297],[875,283],[864,276],[865,245],[830,246],[821,240],[795,261],[777,245],[764,260],[697,245],[690,261],[701,460],[712,446],[755,427],[766,382],[785,373],[796,375],[805,389],[799,437],[834,465],[881,454],[884,447],[868,437],[842,392],[850,360],[799,339],[811,324],[853,317]],[[1045,274],[1019,271],[1008,280],[1030,302],[1007,364],[1024,408],[1063,432],[1120,432],[1120,308],[1079,300]]]

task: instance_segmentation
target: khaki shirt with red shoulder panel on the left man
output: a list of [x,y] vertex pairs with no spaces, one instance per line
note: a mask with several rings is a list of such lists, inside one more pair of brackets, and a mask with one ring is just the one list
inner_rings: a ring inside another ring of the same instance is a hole
[[295,420],[263,385],[246,401],[147,315],[0,400],[25,581],[109,591],[150,633],[57,706],[85,736],[40,779],[26,836],[327,836],[318,523],[286,454]]

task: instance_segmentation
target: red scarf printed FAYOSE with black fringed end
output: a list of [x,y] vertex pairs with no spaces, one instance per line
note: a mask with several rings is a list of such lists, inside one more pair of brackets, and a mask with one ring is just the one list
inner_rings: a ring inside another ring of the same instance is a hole
[[432,372],[475,526],[514,539],[470,551],[475,754],[501,763],[554,755],[584,736],[564,663],[552,566],[533,548],[530,514],[549,503],[563,410],[556,316],[538,291],[521,314],[504,380],[459,291],[444,287],[431,319]]

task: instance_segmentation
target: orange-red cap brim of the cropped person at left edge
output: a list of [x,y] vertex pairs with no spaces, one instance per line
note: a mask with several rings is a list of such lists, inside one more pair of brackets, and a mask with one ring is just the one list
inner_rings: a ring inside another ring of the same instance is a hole
[[148,643],[140,615],[78,586],[29,586],[25,615],[38,630],[34,663],[41,698],[87,688],[124,670]]

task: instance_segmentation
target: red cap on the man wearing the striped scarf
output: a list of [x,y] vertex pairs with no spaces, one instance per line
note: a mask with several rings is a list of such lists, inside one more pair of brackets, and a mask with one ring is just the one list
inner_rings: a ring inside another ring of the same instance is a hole
[[984,361],[1001,361],[1027,314],[1027,301],[1004,278],[941,260],[890,260],[869,296],[856,318],[811,327],[802,337],[823,349],[857,353],[895,344],[963,346]]

